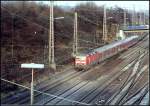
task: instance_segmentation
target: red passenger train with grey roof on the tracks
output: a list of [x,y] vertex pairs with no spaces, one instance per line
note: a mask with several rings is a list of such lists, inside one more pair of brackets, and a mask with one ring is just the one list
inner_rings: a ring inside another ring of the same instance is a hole
[[75,57],[75,68],[77,70],[87,70],[91,65],[112,57],[113,55],[128,49],[138,41],[138,36],[131,36],[124,40],[113,42],[103,47],[91,50],[87,53],[80,53]]

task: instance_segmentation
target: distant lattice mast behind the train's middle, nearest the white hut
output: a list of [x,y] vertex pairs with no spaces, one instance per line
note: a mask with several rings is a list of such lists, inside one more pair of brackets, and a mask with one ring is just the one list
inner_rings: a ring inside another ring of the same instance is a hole
[[106,23],[106,7],[104,6],[104,16],[103,16],[103,40],[107,41],[107,23]]

